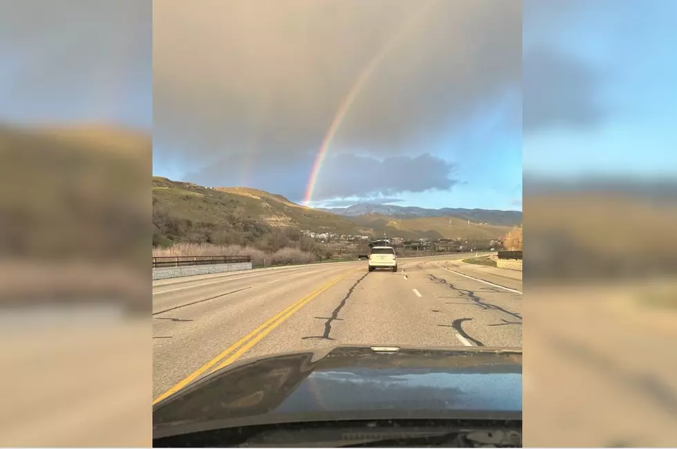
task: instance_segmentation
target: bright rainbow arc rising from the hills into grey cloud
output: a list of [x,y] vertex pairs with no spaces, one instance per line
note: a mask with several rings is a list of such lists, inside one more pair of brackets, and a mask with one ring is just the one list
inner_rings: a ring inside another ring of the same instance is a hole
[[369,77],[371,77],[372,73],[375,71],[376,68],[378,68],[379,64],[381,61],[386,57],[386,55],[391,51],[391,49],[399,42],[399,40],[404,37],[409,31],[411,31],[412,28],[414,28],[414,25],[418,23],[420,19],[423,18],[429,10],[432,9],[432,6],[436,5],[440,0],[431,0],[429,3],[427,3],[425,8],[422,8],[418,14],[414,15],[411,17],[405,26],[400,28],[399,33],[396,33],[393,35],[393,37],[386,43],[383,48],[381,48],[381,51],[376,53],[373,58],[369,61],[369,64],[360,72],[360,75],[358,76],[358,79],[355,81],[355,84],[353,84],[353,88],[349,91],[348,95],[346,95],[346,98],[341,102],[338,110],[336,111],[334,115],[334,119],[331,122],[331,125],[329,126],[328,131],[324,135],[324,138],[322,139],[322,145],[320,145],[319,150],[317,151],[317,155],[315,155],[315,162],[313,163],[313,169],[310,171],[310,177],[308,178],[308,183],[306,184],[306,194],[304,195],[304,205],[309,205],[310,201],[313,200],[313,192],[315,191],[315,185],[317,185],[317,176],[319,175],[320,169],[322,169],[322,164],[324,163],[324,158],[326,158],[326,154],[329,149],[329,145],[331,144],[331,141],[333,140],[334,136],[336,135],[336,131],[341,127],[341,124],[346,116],[346,113],[348,113],[351,105],[355,101],[355,98],[357,98],[358,94],[362,90],[362,86],[367,83],[369,80]]

